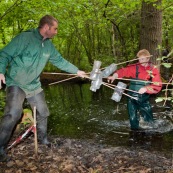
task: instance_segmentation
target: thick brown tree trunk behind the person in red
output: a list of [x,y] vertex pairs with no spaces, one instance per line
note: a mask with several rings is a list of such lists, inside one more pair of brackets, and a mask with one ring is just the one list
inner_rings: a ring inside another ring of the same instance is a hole
[[[154,64],[160,64],[156,59],[161,55],[158,47],[162,45],[162,11],[157,7],[162,0],[154,3],[142,2],[141,9],[141,30],[140,30],[140,49],[147,49],[153,57]],[[156,6],[154,5],[156,4]]]

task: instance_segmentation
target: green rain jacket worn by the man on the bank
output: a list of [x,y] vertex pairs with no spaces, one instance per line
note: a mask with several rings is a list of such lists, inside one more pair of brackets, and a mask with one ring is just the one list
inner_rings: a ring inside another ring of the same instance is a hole
[[7,87],[19,86],[30,97],[42,90],[40,74],[48,61],[63,71],[78,71],[61,56],[50,39],[43,40],[38,28],[31,29],[0,50],[0,73],[5,75]]

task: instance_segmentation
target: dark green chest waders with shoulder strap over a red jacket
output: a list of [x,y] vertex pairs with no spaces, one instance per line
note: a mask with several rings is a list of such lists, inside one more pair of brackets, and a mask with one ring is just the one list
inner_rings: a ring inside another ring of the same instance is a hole
[[[130,86],[129,86],[129,89],[133,91],[139,91],[139,89],[141,89],[142,87],[149,85],[149,82],[137,81],[139,80],[138,68],[139,68],[138,65],[136,65],[136,78],[135,78],[135,81],[130,82]],[[134,92],[128,92],[128,93],[129,95],[138,98],[138,100],[134,100],[129,97],[127,102],[131,129],[135,130],[135,129],[139,129],[140,116],[138,115],[138,113],[140,113],[144,121],[146,122],[153,121],[153,113],[152,113],[151,105],[149,102],[150,96],[147,93],[144,93],[144,94],[138,94]]]

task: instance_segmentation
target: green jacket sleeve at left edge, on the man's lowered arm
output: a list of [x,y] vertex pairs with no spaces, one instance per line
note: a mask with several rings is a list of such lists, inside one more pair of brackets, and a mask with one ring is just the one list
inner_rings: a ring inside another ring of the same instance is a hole
[[21,35],[18,35],[0,50],[0,73],[5,74],[8,64],[19,54],[19,50],[23,47],[20,40]]

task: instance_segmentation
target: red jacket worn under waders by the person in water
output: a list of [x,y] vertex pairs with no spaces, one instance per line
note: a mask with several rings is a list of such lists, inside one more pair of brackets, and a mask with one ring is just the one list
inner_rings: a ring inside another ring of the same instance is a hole
[[160,78],[159,70],[156,66],[149,63],[147,67],[141,64],[132,64],[127,67],[117,70],[118,78],[136,78],[136,65],[138,65],[138,79],[149,81],[151,79],[151,84],[145,86],[147,88],[148,94],[156,94],[162,89],[162,81]]

